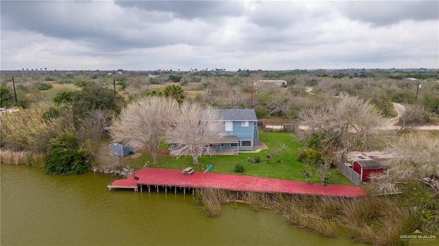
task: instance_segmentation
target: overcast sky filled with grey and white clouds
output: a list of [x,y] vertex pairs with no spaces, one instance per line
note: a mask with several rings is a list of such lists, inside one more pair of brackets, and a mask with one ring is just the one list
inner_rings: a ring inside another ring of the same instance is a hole
[[439,1],[3,1],[1,70],[439,68]]

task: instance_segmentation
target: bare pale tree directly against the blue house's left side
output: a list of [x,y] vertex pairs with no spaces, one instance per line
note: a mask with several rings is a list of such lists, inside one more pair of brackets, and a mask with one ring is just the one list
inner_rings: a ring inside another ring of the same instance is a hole
[[213,153],[211,144],[219,138],[222,122],[215,110],[203,110],[194,103],[183,103],[178,114],[178,123],[169,133],[168,142],[173,145],[175,156],[192,156],[193,164],[198,157]]

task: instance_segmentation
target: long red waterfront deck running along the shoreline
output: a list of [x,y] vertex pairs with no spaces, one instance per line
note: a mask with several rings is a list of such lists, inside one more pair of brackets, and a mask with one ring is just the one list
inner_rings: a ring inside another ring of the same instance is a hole
[[[146,167],[140,169],[135,176],[139,180],[124,179],[127,184],[132,180],[137,184],[158,186],[180,186],[191,188],[221,188],[226,190],[250,190],[266,193],[289,193],[304,195],[328,195],[337,197],[361,197],[367,195],[366,191],[358,186],[346,186],[341,184],[328,184],[322,186],[319,183],[293,180],[277,180],[268,177],[253,177],[246,175],[233,175],[223,173],[194,172],[191,175],[182,175],[180,170],[158,169]],[[129,180],[129,181],[128,181]],[[111,185],[120,185],[120,180]]]

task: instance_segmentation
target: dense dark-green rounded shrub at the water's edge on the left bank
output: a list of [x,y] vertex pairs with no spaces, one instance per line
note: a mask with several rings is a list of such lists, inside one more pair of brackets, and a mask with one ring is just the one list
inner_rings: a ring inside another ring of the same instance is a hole
[[45,157],[46,174],[75,175],[86,173],[90,168],[91,165],[86,162],[86,157],[73,134],[64,133],[50,143],[49,152]]

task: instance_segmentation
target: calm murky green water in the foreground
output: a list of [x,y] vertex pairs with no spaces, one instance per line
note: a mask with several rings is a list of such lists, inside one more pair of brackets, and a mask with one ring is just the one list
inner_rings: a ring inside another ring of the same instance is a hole
[[270,210],[222,206],[206,217],[192,195],[106,188],[100,173],[45,175],[1,165],[1,245],[359,245],[289,225]]

